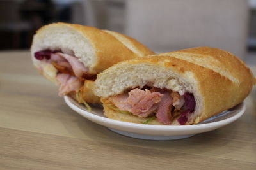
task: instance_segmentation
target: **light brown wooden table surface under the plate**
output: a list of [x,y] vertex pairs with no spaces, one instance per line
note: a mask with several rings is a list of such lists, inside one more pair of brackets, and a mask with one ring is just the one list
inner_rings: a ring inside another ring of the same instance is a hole
[[256,169],[256,90],[236,122],[191,138],[147,141],[72,111],[28,51],[0,53],[0,169]]

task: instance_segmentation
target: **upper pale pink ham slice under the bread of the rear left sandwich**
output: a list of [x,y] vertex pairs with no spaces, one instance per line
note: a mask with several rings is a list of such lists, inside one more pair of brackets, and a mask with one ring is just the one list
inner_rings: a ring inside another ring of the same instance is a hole
[[72,66],[74,74],[77,78],[81,78],[83,74],[88,73],[88,68],[86,68],[82,62],[79,62],[79,60],[76,57],[73,57],[65,53],[56,53],[56,55],[60,55],[68,61],[68,63]]

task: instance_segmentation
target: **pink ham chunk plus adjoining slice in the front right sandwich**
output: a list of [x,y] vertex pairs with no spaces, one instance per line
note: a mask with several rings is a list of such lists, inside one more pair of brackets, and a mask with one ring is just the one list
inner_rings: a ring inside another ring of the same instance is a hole
[[120,94],[109,97],[120,110],[129,111],[138,117],[148,117],[157,111],[156,117],[159,122],[170,125],[172,121],[172,97],[170,92],[150,92],[150,90],[134,89],[129,94]]

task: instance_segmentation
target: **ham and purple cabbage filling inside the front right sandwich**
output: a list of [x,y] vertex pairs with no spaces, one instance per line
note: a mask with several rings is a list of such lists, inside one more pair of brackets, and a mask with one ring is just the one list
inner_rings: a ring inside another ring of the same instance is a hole
[[174,118],[180,125],[188,122],[188,115],[195,110],[193,94],[186,92],[180,96],[178,92],[156,87],[132,89],[124,94],[108,98],[120,111],[127,111],[139,118],[156,117],[164,125],[170,125]]

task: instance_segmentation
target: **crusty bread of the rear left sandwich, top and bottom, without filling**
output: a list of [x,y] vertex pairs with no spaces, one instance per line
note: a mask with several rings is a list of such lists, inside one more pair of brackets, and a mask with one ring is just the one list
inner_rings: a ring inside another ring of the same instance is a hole
[[[45,25],[33,37],[31,56],[34,66],[40,73],[56,85],[58,85],[57,69],[34,57],[35,52],[47,49],[61,50],[63,53],[76,56],[84,66],[88,67],[90,74],[98,74],[122,60],[154,54],[135,39],[117,32],[61,22]],[[86,85],[83,89],[83,92],[88,94],[88,92],[92,92],[92,85]],[[82,94],[82,96],[84,95]],[[90,93],[90,97],[92,97],[92,93]],[[99,101],[97,98],[94,96],[91,100],[84,97],[89,103]]]

